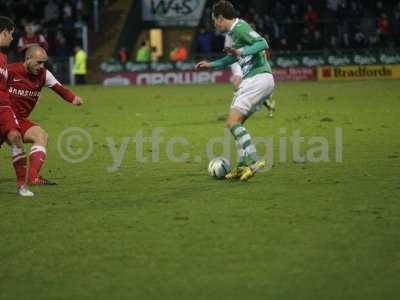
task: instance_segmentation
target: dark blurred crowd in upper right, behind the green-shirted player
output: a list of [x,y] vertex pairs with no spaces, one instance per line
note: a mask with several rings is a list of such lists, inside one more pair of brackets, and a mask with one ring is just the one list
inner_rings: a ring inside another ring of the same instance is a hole
[[[264,33],[277,51],[362,49],[400,46],[399,0],[232,0],[238,16]],[[209,18],[209,1],[196,50],[208,54],[223,47]]]

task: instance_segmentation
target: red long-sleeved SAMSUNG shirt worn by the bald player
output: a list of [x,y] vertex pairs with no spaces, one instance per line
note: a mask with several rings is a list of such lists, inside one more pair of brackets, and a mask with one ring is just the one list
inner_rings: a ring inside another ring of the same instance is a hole
[[74,93],[63,87],[49,70],[42,69],[38,75],[33,75],[27,71],[23,63],[15,63],[8,65],[8,73],[8,92],[18,119],[30,115],[44,86],[51,88],[68,102],[72,102],[75,98]]

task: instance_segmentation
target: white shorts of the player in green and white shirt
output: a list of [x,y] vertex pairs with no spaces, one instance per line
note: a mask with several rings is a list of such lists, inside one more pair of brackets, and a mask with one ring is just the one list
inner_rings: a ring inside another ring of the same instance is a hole
[[274,77],[270,73],[257,74],[243,80],[235,92],[231,109],[249,117],[260,110],[261,105],[271,96],[274,86]]

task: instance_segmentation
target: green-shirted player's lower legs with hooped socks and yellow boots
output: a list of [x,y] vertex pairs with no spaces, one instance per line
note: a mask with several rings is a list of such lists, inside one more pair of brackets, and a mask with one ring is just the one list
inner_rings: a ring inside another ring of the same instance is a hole
[[[243,152],[250,160],[249,166],[246,165],[245,157],[243,157],[242,165],[238,165],[232,170],[232,172],[226,175],[227,179],[240,178],[242,181],[248,180],[250,177],[263,166],[265,166],[265,161],[257,160],[257,151],[251,140],[250,134],[247,132],[243,124],[246,122],[247,116],[242,114],[239,110],[231,109],[227,119],[227,126],[231,130],[232,135],[235,138],[237,144],[242,148]],[[239,148],[238,148],[239,149]],[[240,155],[240,153],[238,152]],[[240,158],[239,158],[240,159]]]

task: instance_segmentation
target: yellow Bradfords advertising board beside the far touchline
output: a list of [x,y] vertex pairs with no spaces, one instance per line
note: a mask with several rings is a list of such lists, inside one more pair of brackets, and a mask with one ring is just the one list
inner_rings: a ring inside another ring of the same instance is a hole
[[318,80],[400,79],[400,65],[319,67]]

